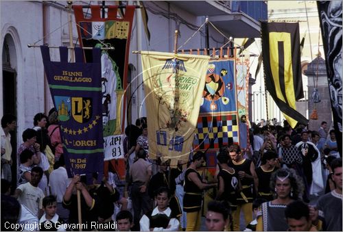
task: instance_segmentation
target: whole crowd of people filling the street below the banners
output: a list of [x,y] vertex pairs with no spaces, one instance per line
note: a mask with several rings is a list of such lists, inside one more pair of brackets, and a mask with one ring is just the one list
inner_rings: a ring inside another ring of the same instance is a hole
[[97,183],[93,173],[87,184],[67,176],[57,116],[34,116],[16,162],[16,117],[1,118],[1,231],[200,231],[203,217],[209,231],[342,231],[342,157],[326,122],[318,131],[253,124],[250,145],[224,144],[211,172],[206,151],[177,167],[150,159],[138,118],[125,130],[126,179],[109,172]]

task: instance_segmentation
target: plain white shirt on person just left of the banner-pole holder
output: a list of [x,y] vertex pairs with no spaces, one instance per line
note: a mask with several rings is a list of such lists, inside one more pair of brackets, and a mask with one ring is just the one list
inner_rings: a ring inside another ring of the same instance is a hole
[[49,186],[51,194],[56,196],[56,201],[62,203],[65,190],[67,190],[71,179],[68,178],[64,167],[57,168],[49,175]]

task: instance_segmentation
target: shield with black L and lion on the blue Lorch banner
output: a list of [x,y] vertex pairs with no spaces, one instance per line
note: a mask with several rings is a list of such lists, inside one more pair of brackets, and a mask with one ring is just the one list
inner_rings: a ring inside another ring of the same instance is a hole
[[71,98],[71,115],[78,123],[86,123],[92,118],[92,99],[86,97]]

